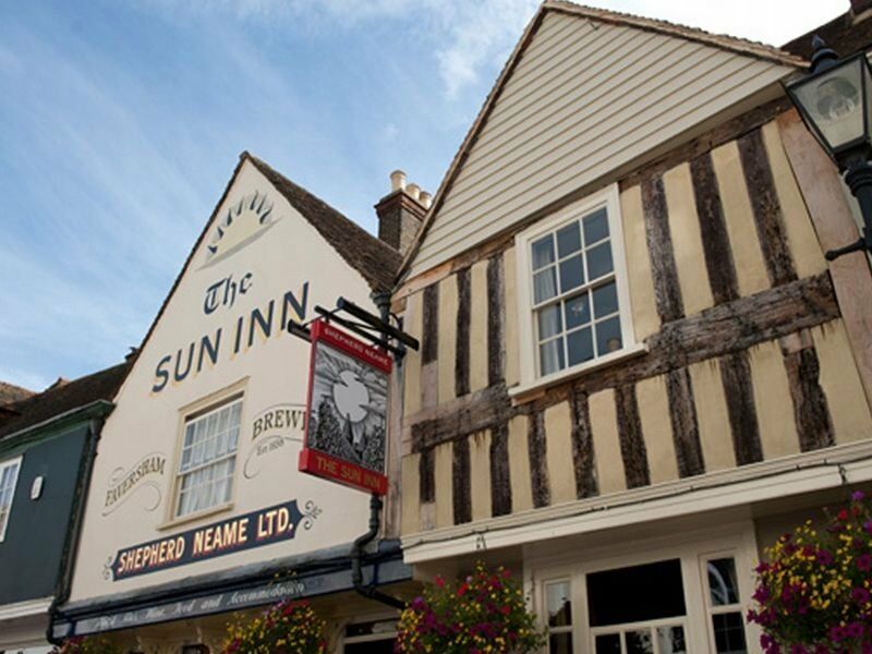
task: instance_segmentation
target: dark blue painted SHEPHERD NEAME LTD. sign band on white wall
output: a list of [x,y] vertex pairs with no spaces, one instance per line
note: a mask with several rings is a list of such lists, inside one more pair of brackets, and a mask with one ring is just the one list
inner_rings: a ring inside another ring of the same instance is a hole
[[296,535],[301,521],[308,528],[318,514],[320,509],[311,501],[306,502],[306,512],[301,512],[294,499],[181,534],[119,549],[112,559],[110,573],[112,580],[118,581],[288,541]]

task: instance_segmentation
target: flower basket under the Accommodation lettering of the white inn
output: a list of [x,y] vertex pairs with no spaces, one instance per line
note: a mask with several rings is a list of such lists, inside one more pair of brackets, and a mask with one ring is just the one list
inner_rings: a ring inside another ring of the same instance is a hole
[[325,622],[307,602],[286,600],[261,615],[237,616],[222,654],[324,654]]

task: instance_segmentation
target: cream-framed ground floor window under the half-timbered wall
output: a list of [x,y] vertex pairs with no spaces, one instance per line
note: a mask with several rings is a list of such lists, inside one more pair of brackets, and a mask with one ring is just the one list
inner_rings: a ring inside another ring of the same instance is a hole
[[746,654],[755,547],[734,545],[677,543],[661,556],[640,547],[638,556],[533,564],[548,653]]

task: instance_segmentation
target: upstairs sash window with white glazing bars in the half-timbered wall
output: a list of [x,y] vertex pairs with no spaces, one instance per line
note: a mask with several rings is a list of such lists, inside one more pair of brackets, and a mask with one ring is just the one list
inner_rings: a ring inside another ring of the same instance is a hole
[[518,238],[525,379],[616,356],[633,343],[617,187]]

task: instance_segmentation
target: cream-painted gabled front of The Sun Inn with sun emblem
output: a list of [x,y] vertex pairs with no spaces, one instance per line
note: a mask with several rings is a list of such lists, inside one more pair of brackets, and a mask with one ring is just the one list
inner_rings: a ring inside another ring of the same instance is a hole
[[[56,639],[216,651],[234,611],[284,597],[311,598],[336,629],[384,615],[351,580],[368,496],[298,471],[310,349],[287,327],[339,296],[375,311],[398,261],[242,155],[106,423]],[[411,578],[390,535],[364,552],[365,583]]]

